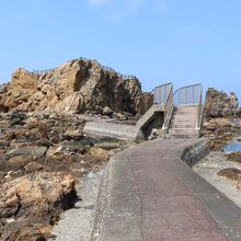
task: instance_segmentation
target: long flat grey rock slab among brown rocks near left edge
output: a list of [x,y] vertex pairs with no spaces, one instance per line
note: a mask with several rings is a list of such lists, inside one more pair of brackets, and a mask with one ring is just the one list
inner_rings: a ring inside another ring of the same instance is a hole
[[7,156],[9,158],[13,158],[16,156],[35,156],[37,158],[41,158],[46,153],[46,147],[23,147],[8,151]]

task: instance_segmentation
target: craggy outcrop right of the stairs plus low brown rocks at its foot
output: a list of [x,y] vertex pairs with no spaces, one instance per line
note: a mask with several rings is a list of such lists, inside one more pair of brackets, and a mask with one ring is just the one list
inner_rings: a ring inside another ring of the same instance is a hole
[[204,106],[203,135],[209,139],[213,149],[220,150],[234,136],[241,135],[240,108],[233,92],[230,96],[225,92],[209,88]]

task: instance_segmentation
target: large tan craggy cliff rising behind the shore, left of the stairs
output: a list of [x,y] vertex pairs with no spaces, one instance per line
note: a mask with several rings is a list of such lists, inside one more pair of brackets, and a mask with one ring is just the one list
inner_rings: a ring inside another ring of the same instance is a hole
[[101,113],[108,106],[114,112],[144,114],[152,95],[141,92],[136,78],[123,78],[97,61],[76,59],[48,71],[18,69],[0,104],[24,112]]

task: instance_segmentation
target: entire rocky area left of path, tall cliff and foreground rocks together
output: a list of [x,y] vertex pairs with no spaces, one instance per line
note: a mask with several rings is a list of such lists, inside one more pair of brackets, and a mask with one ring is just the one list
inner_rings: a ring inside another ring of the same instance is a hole
[[0,240],[47,240],[81,202],[82,179],[135,145],[84,136],[85,122],[135,124],[152,101],[137,78],[95,60],[13,72],[0,87]]

